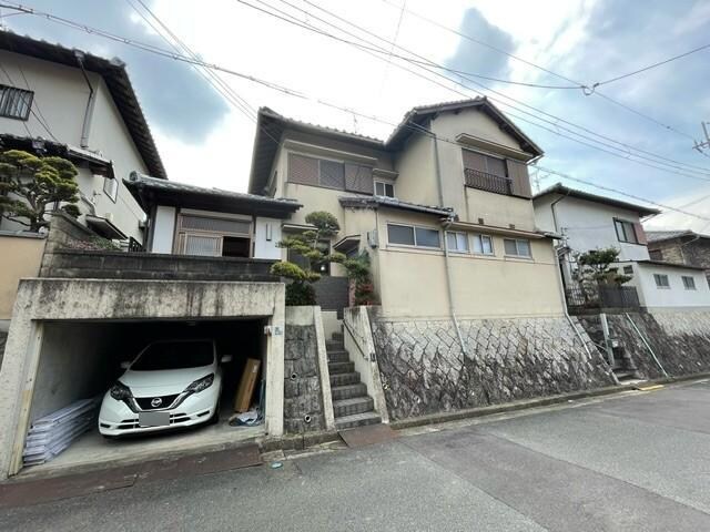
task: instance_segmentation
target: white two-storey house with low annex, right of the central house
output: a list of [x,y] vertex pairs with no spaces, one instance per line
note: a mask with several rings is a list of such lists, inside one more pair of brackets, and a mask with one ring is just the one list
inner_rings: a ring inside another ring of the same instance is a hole
[[649,309],[710,308],[710,287],[702,268],[652,260],[641,218],[653,208],[568,188],[560,183],[534,196],[539,229],[560,235],[557,254],[565,286],[575,286],[576,257],[592,249],[619,249],[619,274],[631,275]]

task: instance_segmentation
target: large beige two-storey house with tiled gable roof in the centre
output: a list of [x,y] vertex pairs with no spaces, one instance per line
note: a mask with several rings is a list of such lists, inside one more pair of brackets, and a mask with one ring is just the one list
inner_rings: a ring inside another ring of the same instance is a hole
[[248,191],[303,204],[286,233],[334,214],[341,233],[324,246],[369,254],[388,318],[561,315],[526,166],[541,155],[486,99],[415,108],[387,141],[263,108]]

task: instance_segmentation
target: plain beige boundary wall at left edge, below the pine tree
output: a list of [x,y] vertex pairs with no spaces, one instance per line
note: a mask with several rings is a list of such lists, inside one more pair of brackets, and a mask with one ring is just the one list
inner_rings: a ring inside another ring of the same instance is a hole
[[39,275],[44,242],[38,236],[0,235],[0,320],[12,317],[20,279]]

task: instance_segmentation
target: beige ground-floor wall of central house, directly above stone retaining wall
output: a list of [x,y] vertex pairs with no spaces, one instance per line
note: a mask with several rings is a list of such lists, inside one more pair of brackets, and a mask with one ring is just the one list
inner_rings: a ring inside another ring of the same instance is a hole
[[[449,317],[444,250],[387,242],[388,222],[436,228],[437,218],[394,209],[381,209],[377,217],[376,285],[383,317]],[[443,234],[442,229],[442,238]],[[460,318],[562,315],[551,241],[530,241],[532,258],[524,259],[505,256],[503,236],[493,239],[494,256],[470,253],[449,256],[456,314]]]

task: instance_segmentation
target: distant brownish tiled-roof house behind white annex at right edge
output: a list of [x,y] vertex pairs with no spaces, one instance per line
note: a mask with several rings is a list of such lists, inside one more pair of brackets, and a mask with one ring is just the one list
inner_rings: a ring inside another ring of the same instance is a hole
[[646,236],[652,259],[698,266],[710,277],[710,236],[692,231],[647,231]]

